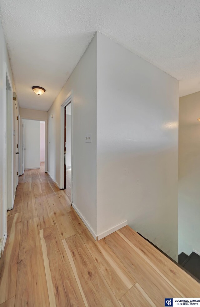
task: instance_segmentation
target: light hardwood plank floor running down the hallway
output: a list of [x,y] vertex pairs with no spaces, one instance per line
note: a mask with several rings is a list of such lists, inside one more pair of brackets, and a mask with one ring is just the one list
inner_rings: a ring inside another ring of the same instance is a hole
[[126,226],[96,242],[44,166],[19,177],[0,259],[0,307],[164,306],[200,284]]

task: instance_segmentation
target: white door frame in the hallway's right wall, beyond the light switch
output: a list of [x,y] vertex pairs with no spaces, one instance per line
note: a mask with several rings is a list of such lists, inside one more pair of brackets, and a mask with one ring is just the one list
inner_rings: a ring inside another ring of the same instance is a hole
[[71,103],[72,108],[72,130],[71,130],[71,203],[73,202],[73,90],[67,95],[61,105],[61,130],[60,130],[60,189],[64,189],[64,125],[65,125],[65,107]]

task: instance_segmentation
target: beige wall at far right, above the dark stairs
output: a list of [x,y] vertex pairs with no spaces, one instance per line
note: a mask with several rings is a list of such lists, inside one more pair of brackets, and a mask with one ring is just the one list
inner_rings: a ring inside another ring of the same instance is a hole
[[200,252],[200,92],[179,98],[178,252]]

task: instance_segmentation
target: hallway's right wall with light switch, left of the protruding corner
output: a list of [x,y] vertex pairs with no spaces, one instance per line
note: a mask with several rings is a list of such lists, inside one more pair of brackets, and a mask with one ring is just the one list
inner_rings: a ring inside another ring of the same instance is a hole
[[[48,111],[48,172],[58,184],[61,157],[61,105],[71,90],[73,90],[73,203],[96,232],[96,35]],[[91,143],[85,142],[88,133],[92,133]]]

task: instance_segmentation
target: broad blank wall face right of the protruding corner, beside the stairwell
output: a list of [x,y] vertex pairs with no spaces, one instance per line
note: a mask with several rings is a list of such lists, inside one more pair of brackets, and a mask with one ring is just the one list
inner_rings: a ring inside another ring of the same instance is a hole
[[97,35],[97,234],[123,221],[178,260],[178,81]]

